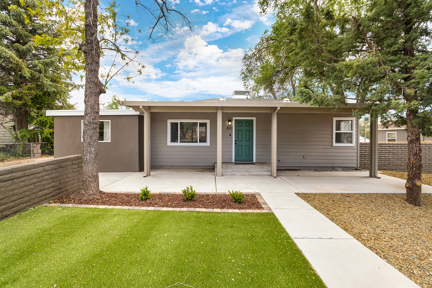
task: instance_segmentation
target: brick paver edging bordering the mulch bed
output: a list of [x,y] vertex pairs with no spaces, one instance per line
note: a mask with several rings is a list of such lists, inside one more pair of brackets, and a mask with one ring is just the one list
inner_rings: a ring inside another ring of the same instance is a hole
[[[181,192],[160,192],[152,194],[182,194]],[[197,193],[197,194],[228,194],[228,193]],[[162,211],[197,211],[197,212],[232,212],[232,213],[273,213],[270,206],[264,201],[260,193],[243,193],[255,194],[264,210],[260,209],[205,209],[205,208],[167,208],[167,207],[137,207],[137,206],[107,206],[107,205],[79,205],[79,204],[42,204],[43,206],[61,206],[61,207],[81,207],[81,208],[116,208],[116,209],[134,209],[134,210],[162,210]]]

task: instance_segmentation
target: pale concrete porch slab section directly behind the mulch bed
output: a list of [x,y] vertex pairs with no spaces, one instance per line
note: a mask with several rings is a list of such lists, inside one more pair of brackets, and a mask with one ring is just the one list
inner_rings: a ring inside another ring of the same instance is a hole
[[154,171],[149,177],[143,177],[143,172],[132,173],[111,183],[103,189],[104,192],[138,193],[146,185],[152,192],[181,192],[189,185],[195,191],[216,192],[215,176],[211,172],[172,172],[169,170]]

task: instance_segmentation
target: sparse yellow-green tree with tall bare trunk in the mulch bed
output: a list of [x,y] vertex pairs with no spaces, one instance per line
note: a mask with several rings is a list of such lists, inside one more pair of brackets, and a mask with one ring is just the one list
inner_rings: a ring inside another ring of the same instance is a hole
[[[105,8],[99,6],[99,0],[40,1],[52,7],[52,16],[55,16],[56,19],[63,19],[63,43],[71,47],[73,51],[78,51],[74,54],[76,61],[72,62],[76,64],[76,69],[82,69],[85,72],[83,189],[74,196],[76,198],[97,197],[100,192],[98,177],[99,96],[106,92],[108,82],[125,66],[136,65],[139,73],[144,66],[136,61],[138,51],[124,46],[133,41],[133,38],[129,36],[129,16],[124,16],[126,25],[121,25],[118,21],[119,7],[115,1],[109,2]],[[175,2],[169,0],[149,0],[148,2],[143,3],[136,0],[135,4],[137,9],[143,10],[146,15],[155,20],[149,27],[149,39],[152,41],[157,41],[158,38],[177,29],[177,24],[192,28],[187,17],[175,8]],[[173,22],[173,16],[178,16],[180,23]],[[105,55],[109,55],[110,59],[114,60],[108,66],[106,73],[99,73],[101,57]],[[83,66],[81,66],[82,63],[84,63]],[[126,77],[127,80],[130,78]]]

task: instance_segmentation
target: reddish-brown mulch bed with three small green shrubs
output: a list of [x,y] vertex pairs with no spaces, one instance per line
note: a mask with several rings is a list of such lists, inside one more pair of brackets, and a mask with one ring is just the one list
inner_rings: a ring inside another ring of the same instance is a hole
[[194,200],[187,201],[183,194],[152,194],[147,201],[138,199],[139,194],[101,192],[99,198],[73,199],[68,194],[55,199],[54,203],[80,205],[111,205],[132,207],[168,207],[168,208],[208,208],[208,209],[259,209],[260,202],[255,195],[246,194],[242,203],[234,203],[229,195],[198,194]]

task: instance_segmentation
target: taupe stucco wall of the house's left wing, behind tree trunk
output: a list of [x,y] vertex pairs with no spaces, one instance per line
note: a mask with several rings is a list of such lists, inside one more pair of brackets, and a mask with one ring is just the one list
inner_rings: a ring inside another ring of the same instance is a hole
[[[54,116],[54,158],[83,154],[81,141],[83,118],[83,116]],[[111,120],[111,142],[98,143],[99,172],[142,171],[143,155],[140,150],[143,142],[141,139],[143,116],[100,116],[99,119]]]

